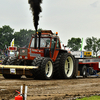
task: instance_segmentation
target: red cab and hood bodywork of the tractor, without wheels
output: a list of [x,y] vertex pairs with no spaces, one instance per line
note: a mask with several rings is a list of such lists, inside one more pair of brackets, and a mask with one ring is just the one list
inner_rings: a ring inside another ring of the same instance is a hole
[[33,60],[34,58],[50,57],[53,61],[61,48],[59,37],[51,30],[42,30],[32,35],[29,47],[19,49],[19,59]]

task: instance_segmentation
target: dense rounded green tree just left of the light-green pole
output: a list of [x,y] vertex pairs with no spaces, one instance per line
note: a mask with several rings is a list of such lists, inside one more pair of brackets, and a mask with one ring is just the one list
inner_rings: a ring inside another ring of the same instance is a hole
[[81,39],[80,38],[69,39],[67,47],[71,48],[71,51],[78,51],[81,48]]

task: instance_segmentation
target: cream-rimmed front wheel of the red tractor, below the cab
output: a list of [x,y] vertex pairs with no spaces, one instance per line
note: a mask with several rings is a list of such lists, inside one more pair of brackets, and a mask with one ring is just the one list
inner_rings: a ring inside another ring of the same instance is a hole
[[38,69],[33,71],[34,79],[49,80],[53,76],[53,62],[51,58],[35,58],[33,61],[34,66],[39,66]]

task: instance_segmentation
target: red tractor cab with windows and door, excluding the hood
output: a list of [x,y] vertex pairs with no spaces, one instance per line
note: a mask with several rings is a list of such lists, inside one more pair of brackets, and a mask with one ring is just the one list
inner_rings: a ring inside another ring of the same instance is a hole
[[[61,48],[59,37],[54,35],[51,30],[42,30],[32,36],[29,48],[43,52],[43,57],[54,59],[56,49]],[[42,51],[41,51],[42,50]]]

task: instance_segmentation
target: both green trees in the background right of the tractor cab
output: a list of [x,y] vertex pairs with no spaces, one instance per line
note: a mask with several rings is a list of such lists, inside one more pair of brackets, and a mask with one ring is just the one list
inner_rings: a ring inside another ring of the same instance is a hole
[[[96,57],[98,56],[98,53],[100,51],[100,38],[97,39],[96,37],[87,37],[86,40],[86,45],[83,46],[85,51],[92,51],[93,55]],[[82,40],[80,38],[71,38],[68,39],[68,43],[66,47],[70,48],[70,51],[80,51],[82,45]],[[100,55],[100,54],[99,54]]]

